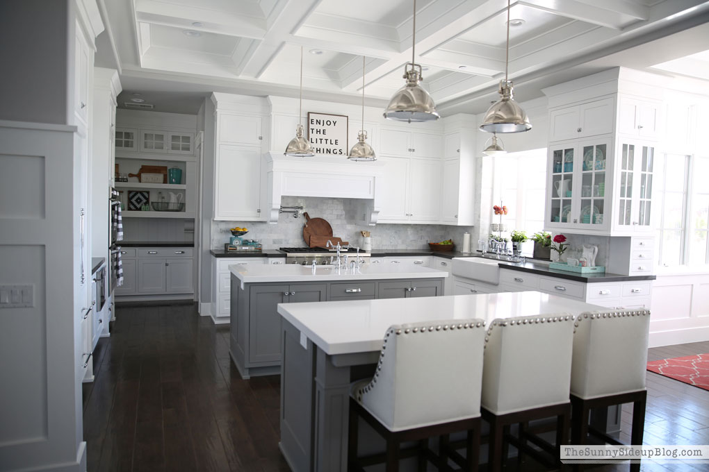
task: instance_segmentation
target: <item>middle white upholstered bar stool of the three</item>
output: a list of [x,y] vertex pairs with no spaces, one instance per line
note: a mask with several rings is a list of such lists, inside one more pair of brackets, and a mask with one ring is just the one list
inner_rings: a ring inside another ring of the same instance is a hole
[[[490,423],[488,471],[501,470],[506,440],[519,454],[524,451],[547,466],[559,464],[559,447],[569,437],[573,335],[569,313],[499,319],[489,326],[481,400],[482,417]],[[508,434],[510,425],[551,417],[557,418],[556,444],[527,438],[551,457]]]

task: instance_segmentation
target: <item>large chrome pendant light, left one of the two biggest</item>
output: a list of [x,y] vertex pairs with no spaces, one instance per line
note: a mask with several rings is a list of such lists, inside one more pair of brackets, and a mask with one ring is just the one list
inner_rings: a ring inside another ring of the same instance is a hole
[[[389,106],[384,110],[384,117],[389,120],[406,122],[421,122],[437,120],[440,118],[436,111],[433,99],[425,89],[420,86],[423,79],[421,66],[416,64],[416,0],[413,0],[413,47],[411,48],[411,62],[404,67],[403,78],[406,85],[399,88],[389,101]],[[411,69],[408,67],[411,66]]]

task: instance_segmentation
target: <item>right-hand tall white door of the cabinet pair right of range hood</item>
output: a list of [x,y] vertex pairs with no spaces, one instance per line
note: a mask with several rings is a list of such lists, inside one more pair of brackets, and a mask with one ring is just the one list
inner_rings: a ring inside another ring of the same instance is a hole
[[442,162],[438,159],[411,159],[409,220],[430,222],[440,219]]

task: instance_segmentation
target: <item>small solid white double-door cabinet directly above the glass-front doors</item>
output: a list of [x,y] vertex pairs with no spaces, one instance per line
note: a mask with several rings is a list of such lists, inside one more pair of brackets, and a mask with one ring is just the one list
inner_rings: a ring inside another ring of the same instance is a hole
[[549,141],[584,138],[613,132],[615,98],[602,98],[549,112]]

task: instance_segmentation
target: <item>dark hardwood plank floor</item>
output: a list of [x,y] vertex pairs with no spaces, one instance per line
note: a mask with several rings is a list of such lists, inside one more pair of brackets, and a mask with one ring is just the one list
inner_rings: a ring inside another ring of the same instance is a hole
[[[242,380],[228,345],[228,326],[200,317],[194,304],[118,306],[111,337],[94,353],[95,381],[84,384],[89,472],[289,471],[278,449],[279,376]],[[709,342],[657,347],[649,360],[703,352]],[[647,390],[645,444],[709,444],[709,391],[653,372]],[[624,441],[630,418],[624,408]],[[525,471],[538,470],[525,464]]]

